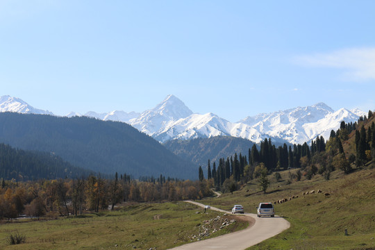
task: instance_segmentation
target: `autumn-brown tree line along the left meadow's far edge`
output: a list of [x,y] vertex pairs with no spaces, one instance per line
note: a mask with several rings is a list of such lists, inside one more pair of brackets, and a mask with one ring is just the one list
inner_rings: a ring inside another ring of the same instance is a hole
[[160,176],[155,181],[134,180],[129,175],[115,178],[90,175],[87,178],[16,182],[2,179],[0,219],[19,215],[39,217],[78,216],[99,210],[113,210],[124,201],[178,201],[201,199],[212,194],[209,181],[172,181]]

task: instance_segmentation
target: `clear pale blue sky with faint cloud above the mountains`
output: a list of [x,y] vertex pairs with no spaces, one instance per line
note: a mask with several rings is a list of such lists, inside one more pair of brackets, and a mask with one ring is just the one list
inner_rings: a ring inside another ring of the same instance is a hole
[[56,115],[168,94],[231,122],[375,110],[375,1],[0,0],[0,96]]

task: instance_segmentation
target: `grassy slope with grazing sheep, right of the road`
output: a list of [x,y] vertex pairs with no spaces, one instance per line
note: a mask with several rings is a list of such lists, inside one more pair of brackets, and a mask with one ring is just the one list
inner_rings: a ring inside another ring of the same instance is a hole
[[[270,178],[272,185],[267,194],[258,192],[253,181],[233,195],[224,194],[209,202],[225,209],[240,203],[246,212],[256,213],[261,201],[299,196],[275,205],[276,214],[288,219],[291,228],[250,249],[375,249],[375,169],[357,170],[349,175],[336,171],[330,181],[317,175],[310,181],[290,185],[286,183],[288,175],[288,171],[283,172],[283,181],[278,183]],[[319,189],[331,196],[302,194]],[[345,228],[348,236],[344,235]]]

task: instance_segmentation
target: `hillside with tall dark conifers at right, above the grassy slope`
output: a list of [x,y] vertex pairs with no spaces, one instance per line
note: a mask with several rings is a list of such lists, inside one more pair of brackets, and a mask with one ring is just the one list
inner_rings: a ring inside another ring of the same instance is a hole
[[[374,165],[375,159],[375,119],[372,111],[368,117],[360,117],[358,122],[342,122],[338,131],[331,131],[330,138],[317,137],[309,146],[294,144],[276,147],[271,139],[260,143],[258,149],[253,145],[247,154],[208,160],[207,167],[199,167],[198,176],[203,180],[213,180],[217,190],[233,192],[247,181],[259,178],[263,191],[267,190],[267,174],[286,169],[297,169],[291,180],[308,180],[321,174],[329,180],[331,172],[342,170],[345,174],[353,168],[361,169]],[[262,181],[263,179],[263,181]]]

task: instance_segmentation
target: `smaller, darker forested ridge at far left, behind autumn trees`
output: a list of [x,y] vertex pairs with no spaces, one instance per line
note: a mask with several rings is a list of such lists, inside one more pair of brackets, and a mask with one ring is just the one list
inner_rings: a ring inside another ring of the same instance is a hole
[[74,167],[53,153],[24,151],[0,144],[0,178],[31,181],[47,178],[78,178],[94,174]]

